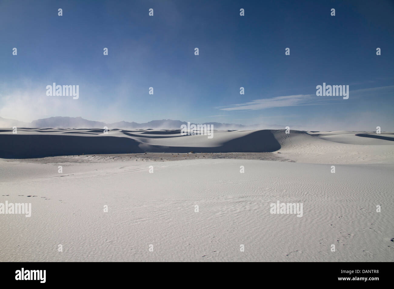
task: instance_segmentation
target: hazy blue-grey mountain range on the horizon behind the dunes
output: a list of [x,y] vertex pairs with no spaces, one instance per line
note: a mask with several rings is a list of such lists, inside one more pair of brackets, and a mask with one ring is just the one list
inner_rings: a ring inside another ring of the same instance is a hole
[[[180,129],[181,125],[188,123],[180,120],[152,120],[146,123],[119,121],[115,123],[104,123],[101,121],[85,120],[80,116],[71,118],[68,116],[56,116],[50,118],[43,118],[39,120],[33,120],[31,123],[11,120],[0,117],[0,127],[37,127],[37,128],[64,128],[64,129],[93,129],[93,128],[104,128],[108,129]],[[197,123],[195,123],[197,124]],[[284,129],[283,125],[267,125],[267,124],[255,124],[255,125],[241,125],[234,123],[219,123],[219,122],[205,122],[200,124],[213,125],[213,129],[227,130],[227,129]],[[295,127],[296,129],[296,127]]]

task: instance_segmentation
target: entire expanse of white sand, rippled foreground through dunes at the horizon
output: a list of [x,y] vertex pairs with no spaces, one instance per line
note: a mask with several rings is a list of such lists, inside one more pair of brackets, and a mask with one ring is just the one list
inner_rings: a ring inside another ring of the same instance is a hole
[[[0,159],[0,202],[32,203],[31,217],[0,215],[0,261],[394,261],[394,146],[375,138],[390,133],[2,130],[3,157],[64,157]],[[296,163],[82,155],[127,149]],[[302,217],[271,214],[277,201],[302,203]]]

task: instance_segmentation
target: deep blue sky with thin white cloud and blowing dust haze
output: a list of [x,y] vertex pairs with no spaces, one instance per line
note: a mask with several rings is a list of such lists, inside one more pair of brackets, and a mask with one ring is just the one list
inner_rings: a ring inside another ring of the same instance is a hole
[[[393,1],[1,1],[0,116],[394,131],[392,15]],[[79,98],[46,96],[54,82]],[[349,99],[316,96],[323,82]]]

